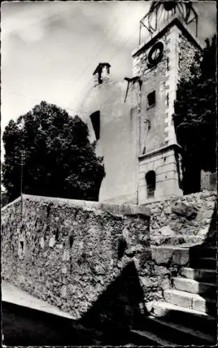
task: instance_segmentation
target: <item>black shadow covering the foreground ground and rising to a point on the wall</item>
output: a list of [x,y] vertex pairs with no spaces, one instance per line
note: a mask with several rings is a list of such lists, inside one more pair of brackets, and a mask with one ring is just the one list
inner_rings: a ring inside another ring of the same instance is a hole
[[146,316],[143,290],[131,261],[79,320],[3,303],[4,344],[124,345]]

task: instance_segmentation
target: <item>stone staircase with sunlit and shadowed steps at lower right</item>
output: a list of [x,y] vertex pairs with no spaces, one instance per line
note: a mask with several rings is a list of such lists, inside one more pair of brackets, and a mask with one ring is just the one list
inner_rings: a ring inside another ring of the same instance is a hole
[[130,345],[217,344],[217,248],[190,249],[189,267],[172,278],[165,301],[150,303],[141,327],[131,331]]

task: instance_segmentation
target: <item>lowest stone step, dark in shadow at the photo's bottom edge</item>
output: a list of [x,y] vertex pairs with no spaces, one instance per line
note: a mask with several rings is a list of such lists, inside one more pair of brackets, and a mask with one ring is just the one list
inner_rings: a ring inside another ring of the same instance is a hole
[[158,333],[150,332],[149,330],[131,330],[132,340],[137,346],[166,346],[166,347],[175,347],[175,343],[170,342],[169,340],[164,340],[159,337]]

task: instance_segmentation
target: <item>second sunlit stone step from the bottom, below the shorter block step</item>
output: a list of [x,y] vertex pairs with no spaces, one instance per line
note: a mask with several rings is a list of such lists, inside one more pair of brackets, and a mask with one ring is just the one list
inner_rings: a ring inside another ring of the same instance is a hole
[[217,301],[204,298],[198,294],[173,289],[165,290],[164,300],[174,305],[199,310],[212,316],[215,316],[217,313]]

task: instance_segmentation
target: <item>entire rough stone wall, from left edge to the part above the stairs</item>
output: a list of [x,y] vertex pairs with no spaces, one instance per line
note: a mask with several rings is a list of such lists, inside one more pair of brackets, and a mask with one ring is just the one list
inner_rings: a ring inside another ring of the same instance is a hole
[[137,206],[23,195],[2,209],[2,277],[83,325],[125,331],[189,265],[189,248],[168,244],[205,235],[215,198],[180,198],[197,209],[189,219],[172,212],[175,198]]

